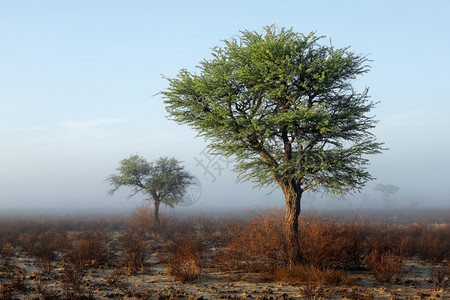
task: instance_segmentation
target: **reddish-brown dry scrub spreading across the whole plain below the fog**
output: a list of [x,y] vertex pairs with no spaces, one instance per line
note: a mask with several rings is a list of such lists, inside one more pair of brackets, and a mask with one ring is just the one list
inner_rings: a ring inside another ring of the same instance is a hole
[[[103,274],[95,276],[112,290],[102,295],[123,298],[148,294],[133,278],[162,275],[198,284],[217,272],[230,281],[253,274],[264,282],[300,285],[309,295],[358,284],[362,274],[380,286],[408,284],[412,260],[426,265],[428,284],[449,285],[445,223],[305,214],[299,219],[302,262],[290,266],[282,211],[215,219],[162,215],[158,229],[152,218],[150,208],[140,207],[121,219],[0,220],[0,299],[28,293],[37,299],[95,298],[101,285],[92,274]],[[154,288],[151,294],[163,293]]]

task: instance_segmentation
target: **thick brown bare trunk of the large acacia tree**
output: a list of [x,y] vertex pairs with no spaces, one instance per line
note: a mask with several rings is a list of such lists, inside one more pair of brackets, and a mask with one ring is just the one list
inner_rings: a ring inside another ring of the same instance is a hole
[[300,200],[303,191],[295,184],[283,185],[281,188],[286,199],[285,226],[288,259],[289,265],[294,266],[302,259],[298,236],[298,217],[300,215]]

